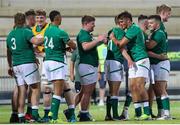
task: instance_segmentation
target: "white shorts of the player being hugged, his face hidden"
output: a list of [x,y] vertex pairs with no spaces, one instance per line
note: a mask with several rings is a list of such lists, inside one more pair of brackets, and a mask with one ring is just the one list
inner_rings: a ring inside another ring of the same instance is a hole
[[116,60],[106,60],[104,65],[106,78],[109,81],[123,80],[123,65]]

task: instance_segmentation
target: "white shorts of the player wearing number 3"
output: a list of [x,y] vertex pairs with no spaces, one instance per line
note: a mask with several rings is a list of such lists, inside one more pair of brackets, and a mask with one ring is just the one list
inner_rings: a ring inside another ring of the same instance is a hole
[[39,70],[36,63],[13,66],[13,72],[18,86],[40,82]]

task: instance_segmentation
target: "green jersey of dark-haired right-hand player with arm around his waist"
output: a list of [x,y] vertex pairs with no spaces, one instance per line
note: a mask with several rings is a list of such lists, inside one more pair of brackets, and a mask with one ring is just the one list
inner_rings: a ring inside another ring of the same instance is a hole
[[[150,49],[152,52],[156,54],[167,53],[166,34],[162,30],[158,29],[154,31],[150,39],[157,43],[157,45],[154,48]],[[160,61],[162,61],[152,57],[150,57],[149,59],[151,64],[157,64]]]

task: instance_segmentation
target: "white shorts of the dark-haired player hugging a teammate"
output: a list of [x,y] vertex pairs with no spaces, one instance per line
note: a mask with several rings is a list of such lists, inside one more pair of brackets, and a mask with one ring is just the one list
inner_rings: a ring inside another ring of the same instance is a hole
[[137,77],[149,77],[150,62],[149,58],[141,59],[135,62],[135,65],[132,68],[129,68],[129,78]]

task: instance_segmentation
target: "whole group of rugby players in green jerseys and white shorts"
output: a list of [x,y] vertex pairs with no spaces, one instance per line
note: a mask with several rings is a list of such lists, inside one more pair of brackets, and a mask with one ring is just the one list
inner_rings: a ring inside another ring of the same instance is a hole
[[[138,24],[135,24],[131,13],[124,11],[115,16],[116,26],[96,39],[91,34],[95,27],[95,17],[85,15],[81,19],[82,29],[76,42],[59,28],[62,21],[59,11],[49,13],[50,23],[46,22],[44,10],[17,13],[14,16],[14,27],[7,37],[8,74],[15,78],[17,84],[13,92],[10,122],[62,123],[62,119],[58,117],[62,95],[68,105],[64,110],[68,122],[77,121],[75,108],[78,104],[79,121],[93,121],[89,109],[91,95],[101,73],[97,52],[100,45],[107,46],[104,72],[109,93],[106,98],[105,120],[128,120],[131,102],[135,108],[135,120],[172,119],[167,93],[170,72],[168,36],[164,26],[170,13],[171,8],[163,4],[157,7],[154,15],[140,15]],[[75,81],[76,95],[67,80],[66,52],[71,52],[71,61],[76,62],[70,65],[70,78]],[[43,57],[41,75],[36,56]],[[119,115],[119,88],[124,77],[125,60],[128,64],[129,93],[123,112]],[[74,65],[77,65],[75,72]],[[145,88],[147,82],[150,83],[148,90]],[[40,83],[43,84],[42,118],[38,113]],[[24,113],[26,95],[28,105],[27,112]],[[152,112],[154,96],[157,116]]]

